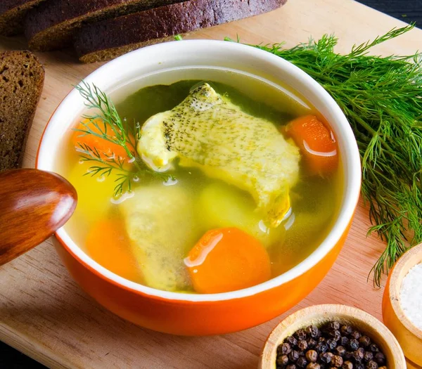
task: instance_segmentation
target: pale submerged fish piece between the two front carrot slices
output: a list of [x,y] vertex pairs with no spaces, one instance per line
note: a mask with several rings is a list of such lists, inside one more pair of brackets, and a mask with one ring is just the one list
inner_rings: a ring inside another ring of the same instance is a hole
[[193,234],[193,203],[179,186],[135,188],[119,206],[132,252],[149,287],[186,290],[190,281],[183,259],[200,235]]

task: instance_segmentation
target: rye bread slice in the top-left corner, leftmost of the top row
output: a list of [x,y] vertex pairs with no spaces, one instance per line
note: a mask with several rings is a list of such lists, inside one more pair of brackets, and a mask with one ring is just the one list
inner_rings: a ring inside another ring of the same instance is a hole
[[44,0],[0,0],[0,34],[13,36],[23,32],[27,11]]

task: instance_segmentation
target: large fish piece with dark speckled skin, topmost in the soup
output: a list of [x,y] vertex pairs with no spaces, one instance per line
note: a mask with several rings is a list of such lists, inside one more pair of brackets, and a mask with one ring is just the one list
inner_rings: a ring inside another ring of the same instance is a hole
[[149,118],[137,151],[165,171],[179,157],[184,167],[247,190],[267,224],[278,226],[290,207],[299,173],[299,149],[266,119],[253,117],[204,83],[172,110]]

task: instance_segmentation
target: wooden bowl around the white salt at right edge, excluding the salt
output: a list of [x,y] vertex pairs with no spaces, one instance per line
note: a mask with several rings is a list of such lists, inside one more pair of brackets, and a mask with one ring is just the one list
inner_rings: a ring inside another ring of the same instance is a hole
[[410,268],[420,263],[422,244],[412,247],[392,268],[384,290],[383,321],[402,345],[404,355],[414,364],[422,366],[422,330],[404,315],[399,301],[404,276]]

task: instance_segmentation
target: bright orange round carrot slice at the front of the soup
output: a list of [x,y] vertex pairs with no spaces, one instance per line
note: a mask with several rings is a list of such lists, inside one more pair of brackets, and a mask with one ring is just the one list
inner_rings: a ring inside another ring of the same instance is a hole
[[267,251],[238,228],[207,231],[189,252],[185,264],[198,293],[241,290],[271,277]]

